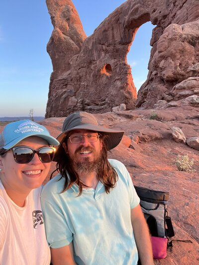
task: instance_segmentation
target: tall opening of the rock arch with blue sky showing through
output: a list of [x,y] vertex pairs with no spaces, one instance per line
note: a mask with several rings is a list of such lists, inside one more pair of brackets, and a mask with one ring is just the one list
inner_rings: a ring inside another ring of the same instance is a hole
[[142,24],[135,35],[132,36],[133,42],[127,54],[127,62],[131,67],[133,83],[137,91],[147,79],[152,48],[150,40],[155,26],[150,21]]

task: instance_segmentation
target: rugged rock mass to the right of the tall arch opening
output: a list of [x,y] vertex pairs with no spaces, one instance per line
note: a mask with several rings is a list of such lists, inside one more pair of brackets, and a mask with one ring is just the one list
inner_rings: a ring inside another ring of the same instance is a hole
[[158,100],[182,105],[182,99],[199,95],[198,76],[199,20],[171,24],[157,41],[147,80],[138,91],[136,106],[153,107]]

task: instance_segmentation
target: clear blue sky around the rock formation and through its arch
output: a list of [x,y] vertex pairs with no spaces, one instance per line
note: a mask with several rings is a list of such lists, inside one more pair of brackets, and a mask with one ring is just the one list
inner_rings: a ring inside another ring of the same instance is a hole
[[[73,0],[89,36],[124,0]],[[0,117],[44,116],[51,59],[46,45],[53,26],[45,0],[0,1]],[[131,45],[128,64],[137,89],[146,80],[152,28],[142,25]]]

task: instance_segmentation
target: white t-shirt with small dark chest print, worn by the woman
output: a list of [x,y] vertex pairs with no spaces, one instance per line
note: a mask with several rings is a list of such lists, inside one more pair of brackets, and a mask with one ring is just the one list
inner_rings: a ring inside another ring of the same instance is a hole
[[0,265],[50,264],[40,204],[41,189],[33,189],[25,206],[19,207],[0,181]]

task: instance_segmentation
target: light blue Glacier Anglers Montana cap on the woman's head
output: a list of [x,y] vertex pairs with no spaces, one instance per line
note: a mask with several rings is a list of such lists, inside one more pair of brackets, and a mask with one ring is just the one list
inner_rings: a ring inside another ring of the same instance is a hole
[[59,145],[59,142],[50,135],[44,126],[31,120],[19,120],[10,122],[3,128],[0,134],[0,149],[8,150],[30,136],[43,138],[51,146]]

